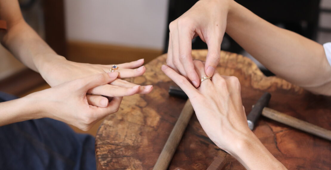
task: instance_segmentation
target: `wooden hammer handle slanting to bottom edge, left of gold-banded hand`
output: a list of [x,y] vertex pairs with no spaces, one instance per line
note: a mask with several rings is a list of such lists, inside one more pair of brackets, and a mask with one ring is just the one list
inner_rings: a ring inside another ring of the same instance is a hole
[[190,100],[187,100],[158,160],[156,161],[156,164],[153,167],[153,170],[166,170],[168,168],[193,112],[194,110],[191,102]]

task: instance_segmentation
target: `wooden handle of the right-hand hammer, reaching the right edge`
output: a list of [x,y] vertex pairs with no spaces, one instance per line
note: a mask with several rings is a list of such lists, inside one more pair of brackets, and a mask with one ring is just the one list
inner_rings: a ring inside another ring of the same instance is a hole
[[311,123],[297,119],[295,117],[281,113],[279,111],[276,111],[276,110],[268,108],[268,107],[263,108],[262,115],[269,119],[284,123],[288,126],[300,129],[302,131],[308,132],[310,134],[313,134],[318,137],[331,141],[331,131],[330,130],[326,130],[319,126],[313,125]]

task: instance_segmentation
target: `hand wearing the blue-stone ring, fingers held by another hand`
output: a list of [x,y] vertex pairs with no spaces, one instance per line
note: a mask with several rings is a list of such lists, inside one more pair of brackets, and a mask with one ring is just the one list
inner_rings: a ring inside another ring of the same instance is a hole
[[[135,77],[142,75],[146,68],[141,66],[144,63],[144,59],[133,61],[130,63],[117,64],[118,78]],[[51,68],[44,68],[40,72],[43,78],[47,81],[49,85],[56,86],[58,84],[71,81],[74,79],[94,75],[97,73],[109,72],[111,65],[101,65],[101,64],[86,64],[86,63],[76,63],[68,61],[64,58],[52,61]],[[138,68],[137,68],[138,67]],[[133,69],[135,68],[135,69]],[[87,98],[89,99],[89,104],[93,106],[104,107],[107,106],[108,100],[106,97],[120,97],[120,96],[130,96],[133,94],[146,94],[152,91],[153,86],[140,86],[137,91],[132,91],[131,88],[137,86],[137,84],[127,82],[121,79],[115,79],[110,84],[101,85],[92,88],[88,91]],[[101,96],[102,95],[102,96]]]

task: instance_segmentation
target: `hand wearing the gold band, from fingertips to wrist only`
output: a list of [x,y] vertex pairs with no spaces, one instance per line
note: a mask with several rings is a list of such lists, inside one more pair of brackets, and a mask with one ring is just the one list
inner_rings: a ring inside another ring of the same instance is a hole
[[[204,64],[197,60],[193,63],[198,76],[206,76]],[[209,138],[219,148],[233,153],[235,142],[251,131],[241,102],[238,78],[215,72],[212,79],[204,80],[196,89],[170,67],[163,65],[162,70],[188,95]]]

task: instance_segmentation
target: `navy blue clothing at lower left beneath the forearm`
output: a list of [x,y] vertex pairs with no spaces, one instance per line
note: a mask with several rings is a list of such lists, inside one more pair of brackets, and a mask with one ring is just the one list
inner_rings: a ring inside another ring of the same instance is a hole
[[[0,92],[0,102],[13,99]],[[94,143],[94,137],[50,118],[1,126],[0,169],[94,170]]]

